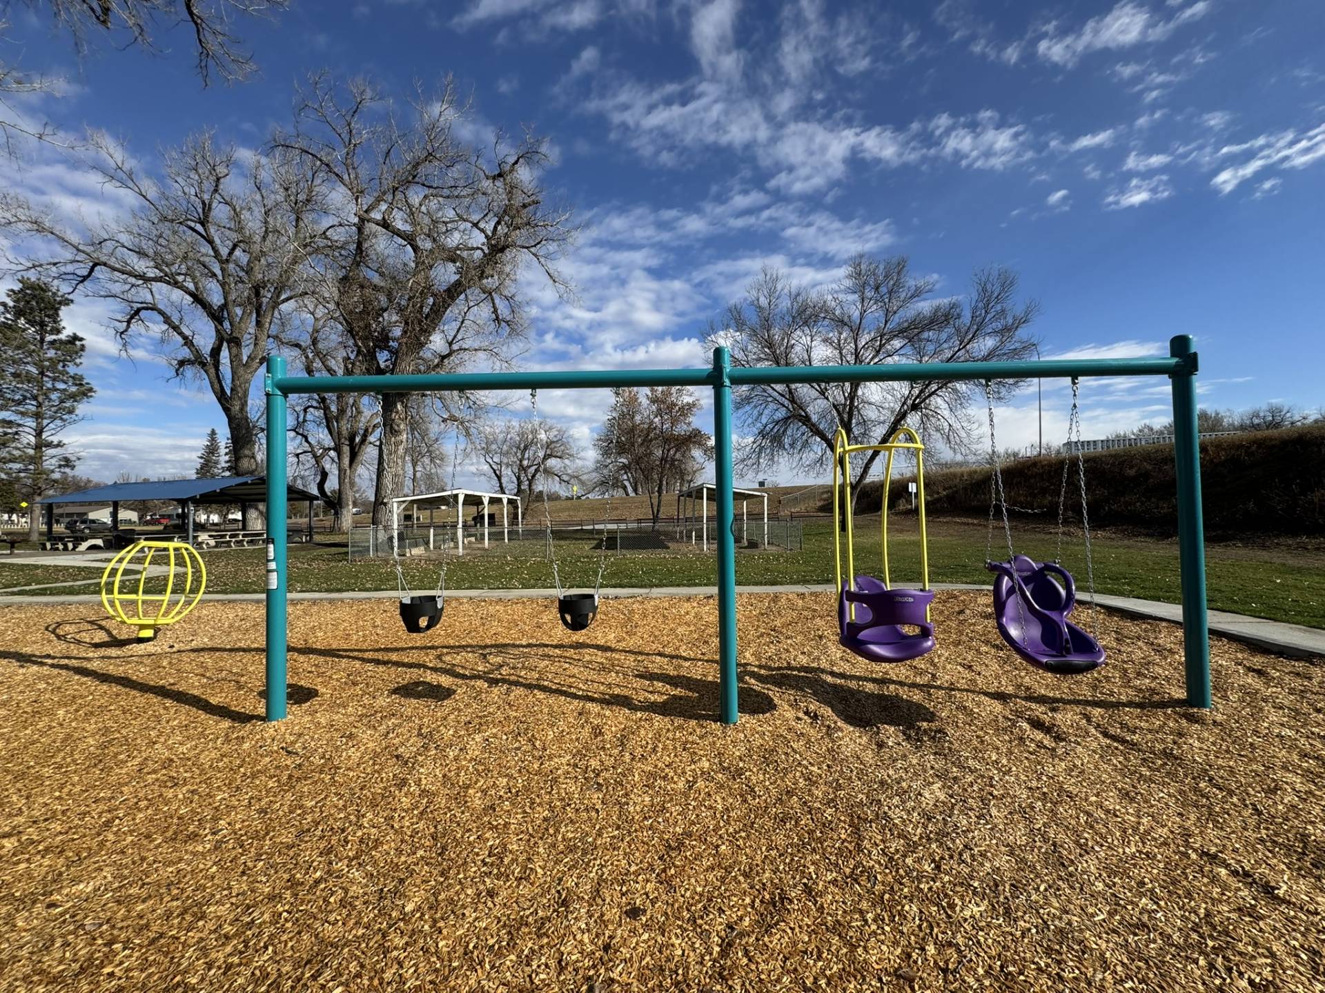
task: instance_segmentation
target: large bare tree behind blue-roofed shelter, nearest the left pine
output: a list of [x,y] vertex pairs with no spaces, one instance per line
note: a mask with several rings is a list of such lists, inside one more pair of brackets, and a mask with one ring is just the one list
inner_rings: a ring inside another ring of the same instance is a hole
[[156,180],[114,142],[95,146],[90,167],[131,209],[66,220],[0,195],[0,225],[44,249],[8,270],[110,301],[126,348],[140,334],[159,339],[176,375],[211,388],[236,471],[256,474],[249,392],[278,316],[306,294],[305,261],[319,252],[325,197],[314,169],[298,155],[241,156],[201,135],[168,152]]

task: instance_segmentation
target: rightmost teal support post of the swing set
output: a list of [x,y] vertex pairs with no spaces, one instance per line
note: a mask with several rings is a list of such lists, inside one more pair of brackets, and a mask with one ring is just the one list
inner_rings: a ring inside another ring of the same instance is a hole
[[1182,567],[1182,641],[1187,706],[1208,708],[1210,618],[1206,613],[1206,526],[1200,510],[1200,433],[1196,425],[1196,352],[1191,335],[1169,340],[1182,361],[1173,380],[1174,461],[1178,473],[1178,560]]

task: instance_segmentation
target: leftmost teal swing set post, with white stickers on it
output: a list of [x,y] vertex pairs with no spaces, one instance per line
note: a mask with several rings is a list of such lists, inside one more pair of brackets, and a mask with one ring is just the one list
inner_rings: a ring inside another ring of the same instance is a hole
[[286,708],[285,475],[286,399],[276,387],[285,359],[266,359],[266,719],[284,720]]

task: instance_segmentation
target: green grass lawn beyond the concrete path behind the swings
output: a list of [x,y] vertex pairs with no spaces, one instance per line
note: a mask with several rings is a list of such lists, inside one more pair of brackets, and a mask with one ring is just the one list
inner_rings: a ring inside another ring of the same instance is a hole
[[[856,568],[878,568],[877,518],[857,523]],[[913,522],[896,524],[892,543],[893,581],[916,583],[920,577],[920,542]],[[1018,528],[1016,548],[1036,559],[1053,556],[1053,535]],[[558,560],[566,587],[592,587],[598,553],[586,545],[564,543]],[[994,536],[994,553],[1006,555],[1003,536]],[[1079,540],[1064,549],[1064,565],[1086,587],[1085,561]],[[530,545],[507,553],[496,545],[489,552],[452,557],[447,584],[452,589],[515,589],[553,584],[546,561],[530,557]],[[1210,606],[1216,610],[1268,617],[1276,621],[1325,628],[1325,552],[1316,547],[1207,545]],[[204,552],[208,589],[212,592],[260,592],[264,588],[264,552],[260,548]],[[395,585],[388,560],[347,561],[344,545],[290,545],[292,592],[379,591]],[[931,522],[929,539],[930,579],[934,583],[988,583],[983,568],[984,526],[974,522]],[[713,556],[693,552],[608,553],[604,585],[685,587],[712,585]],[[409,560],[405,575],[411,587],[428,589],[437,581],[437,563]],[[1094,542],[1096,588],[1101,593],[1178,602],[1178,543],[1134,536],[1098,535]],[[25,567],[0,563],[0,587],[60,583],[94,575],[69,567]],[[806,524],[804,551],[742,552],[737,556],[737,583],[775,585],[832,583],[832,532],[825,520]],[[95,585],[89,584],[87,591]],[[82,592],[56,588],[50,593]]]

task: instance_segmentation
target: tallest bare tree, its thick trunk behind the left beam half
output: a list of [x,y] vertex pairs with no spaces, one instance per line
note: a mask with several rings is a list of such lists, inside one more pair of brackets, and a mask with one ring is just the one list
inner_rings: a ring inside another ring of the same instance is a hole
[[[403,123],[370,85],[317,77],[277,142],[333,189],[337,237],[321,265],[374,373],[505,363],[523,334],[522,266],[562,285],[568,214],[543,203],[542,143],[507,148],[498,135],[474,148],[457,135],[465,111],[448,82]],[[407,430],[403,396],[384,395],[375,523],[404,486]]]

